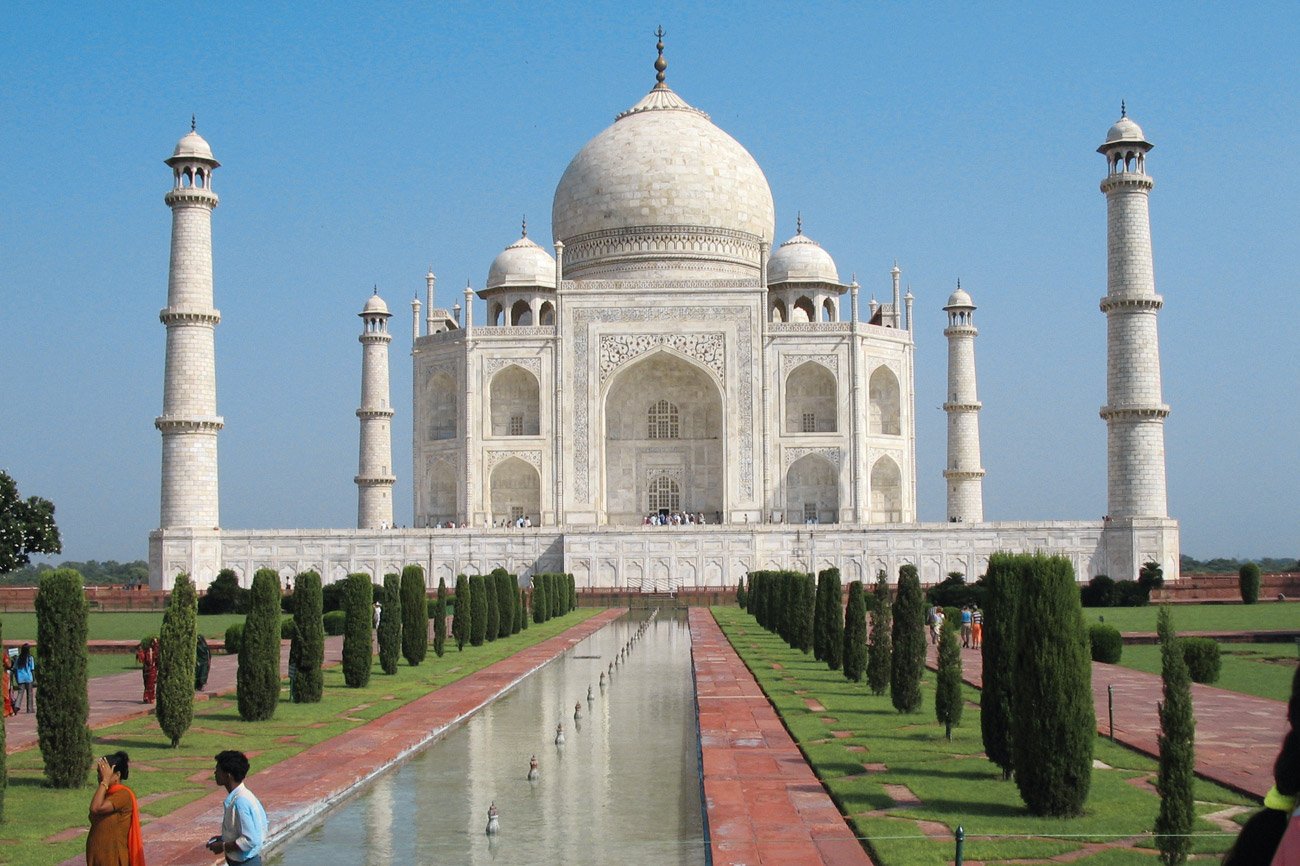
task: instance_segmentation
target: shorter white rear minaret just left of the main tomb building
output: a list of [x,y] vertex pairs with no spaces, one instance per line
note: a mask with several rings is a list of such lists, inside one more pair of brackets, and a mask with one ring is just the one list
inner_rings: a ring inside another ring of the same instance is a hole
[[389,306],[376,289],[361,317],[361,456],[356,471],[356,528],[393,525],[393,406],[389,403]]

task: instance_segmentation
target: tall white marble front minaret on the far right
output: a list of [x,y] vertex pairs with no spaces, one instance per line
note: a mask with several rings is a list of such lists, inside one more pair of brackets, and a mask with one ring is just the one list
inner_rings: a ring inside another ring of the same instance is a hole
[[1152,144],[1121,107],[1097,148],[1106,157],[1106,502],[1112,519],[1165,518],[1165,417],[1147,174]]

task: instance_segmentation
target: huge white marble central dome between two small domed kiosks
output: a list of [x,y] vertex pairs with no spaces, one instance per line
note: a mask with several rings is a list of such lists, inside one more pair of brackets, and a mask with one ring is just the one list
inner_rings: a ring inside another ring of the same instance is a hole
[[571,278],[755,277],[772,220],[749,151],[659,83],[569,163],[551,234]]

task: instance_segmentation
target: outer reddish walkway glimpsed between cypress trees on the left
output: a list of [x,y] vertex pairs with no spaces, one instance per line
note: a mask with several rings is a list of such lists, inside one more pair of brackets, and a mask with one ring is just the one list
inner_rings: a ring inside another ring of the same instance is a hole
[[[343,658],[343,638],[325,638],[325,666],[338,664]],[[199,700],[229,694],[235,690],[235,668],[239,659],[235,655],[213,655],[208,672],[208,684],[196,696]],[[281,644],[280,675],[289,675],[289,641]],[[140,702],[144,685],[139,671],[96,676],[90,681],[90,727],[103,728],[118,722],[126,722],[140,715],[148,715],[153,706]],[[40,703],[40,694],[36,694]],[[21,752],[36,745],[36,714],[20,713],[5,719],[5,752]]]

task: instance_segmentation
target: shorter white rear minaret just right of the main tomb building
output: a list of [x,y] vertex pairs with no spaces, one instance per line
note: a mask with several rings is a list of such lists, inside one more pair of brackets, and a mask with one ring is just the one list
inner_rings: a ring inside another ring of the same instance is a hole
[[979,459],[979,410],[983,403],[975,390],[975,304],[957,281],[948,298],[948,520],[984,520],[984,468]]

